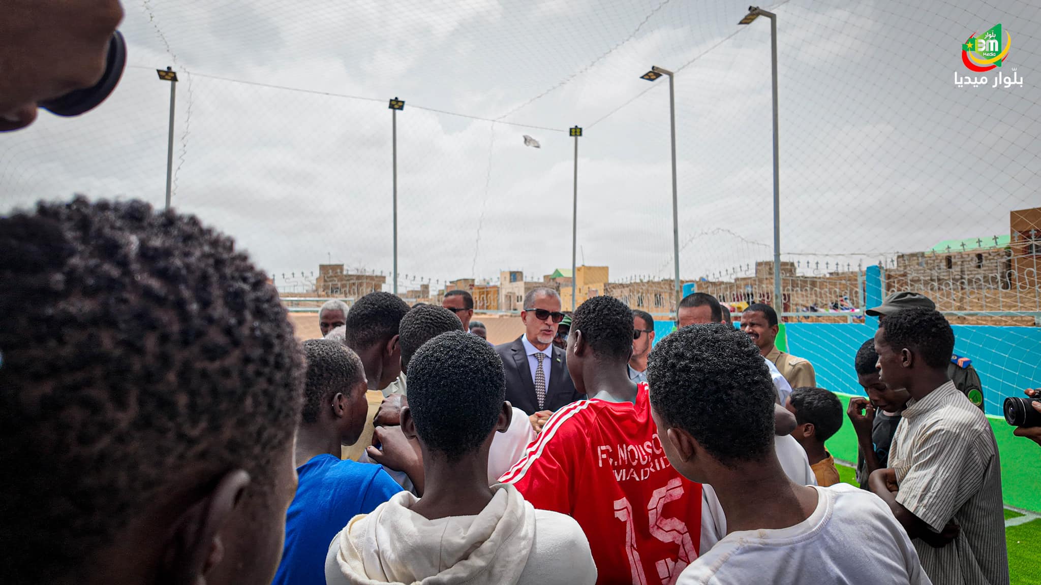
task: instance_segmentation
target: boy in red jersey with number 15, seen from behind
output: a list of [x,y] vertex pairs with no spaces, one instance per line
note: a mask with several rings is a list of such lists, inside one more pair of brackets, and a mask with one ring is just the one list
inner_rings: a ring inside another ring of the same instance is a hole
[[684,479],[662,450],[646,384],[629,380],[633,313],[611,297],[575,311],[567,370],[594,400],[558,410],[501,479],[536,508],[572,515],[598,583],[674,583],[726,534],[711,488]]

